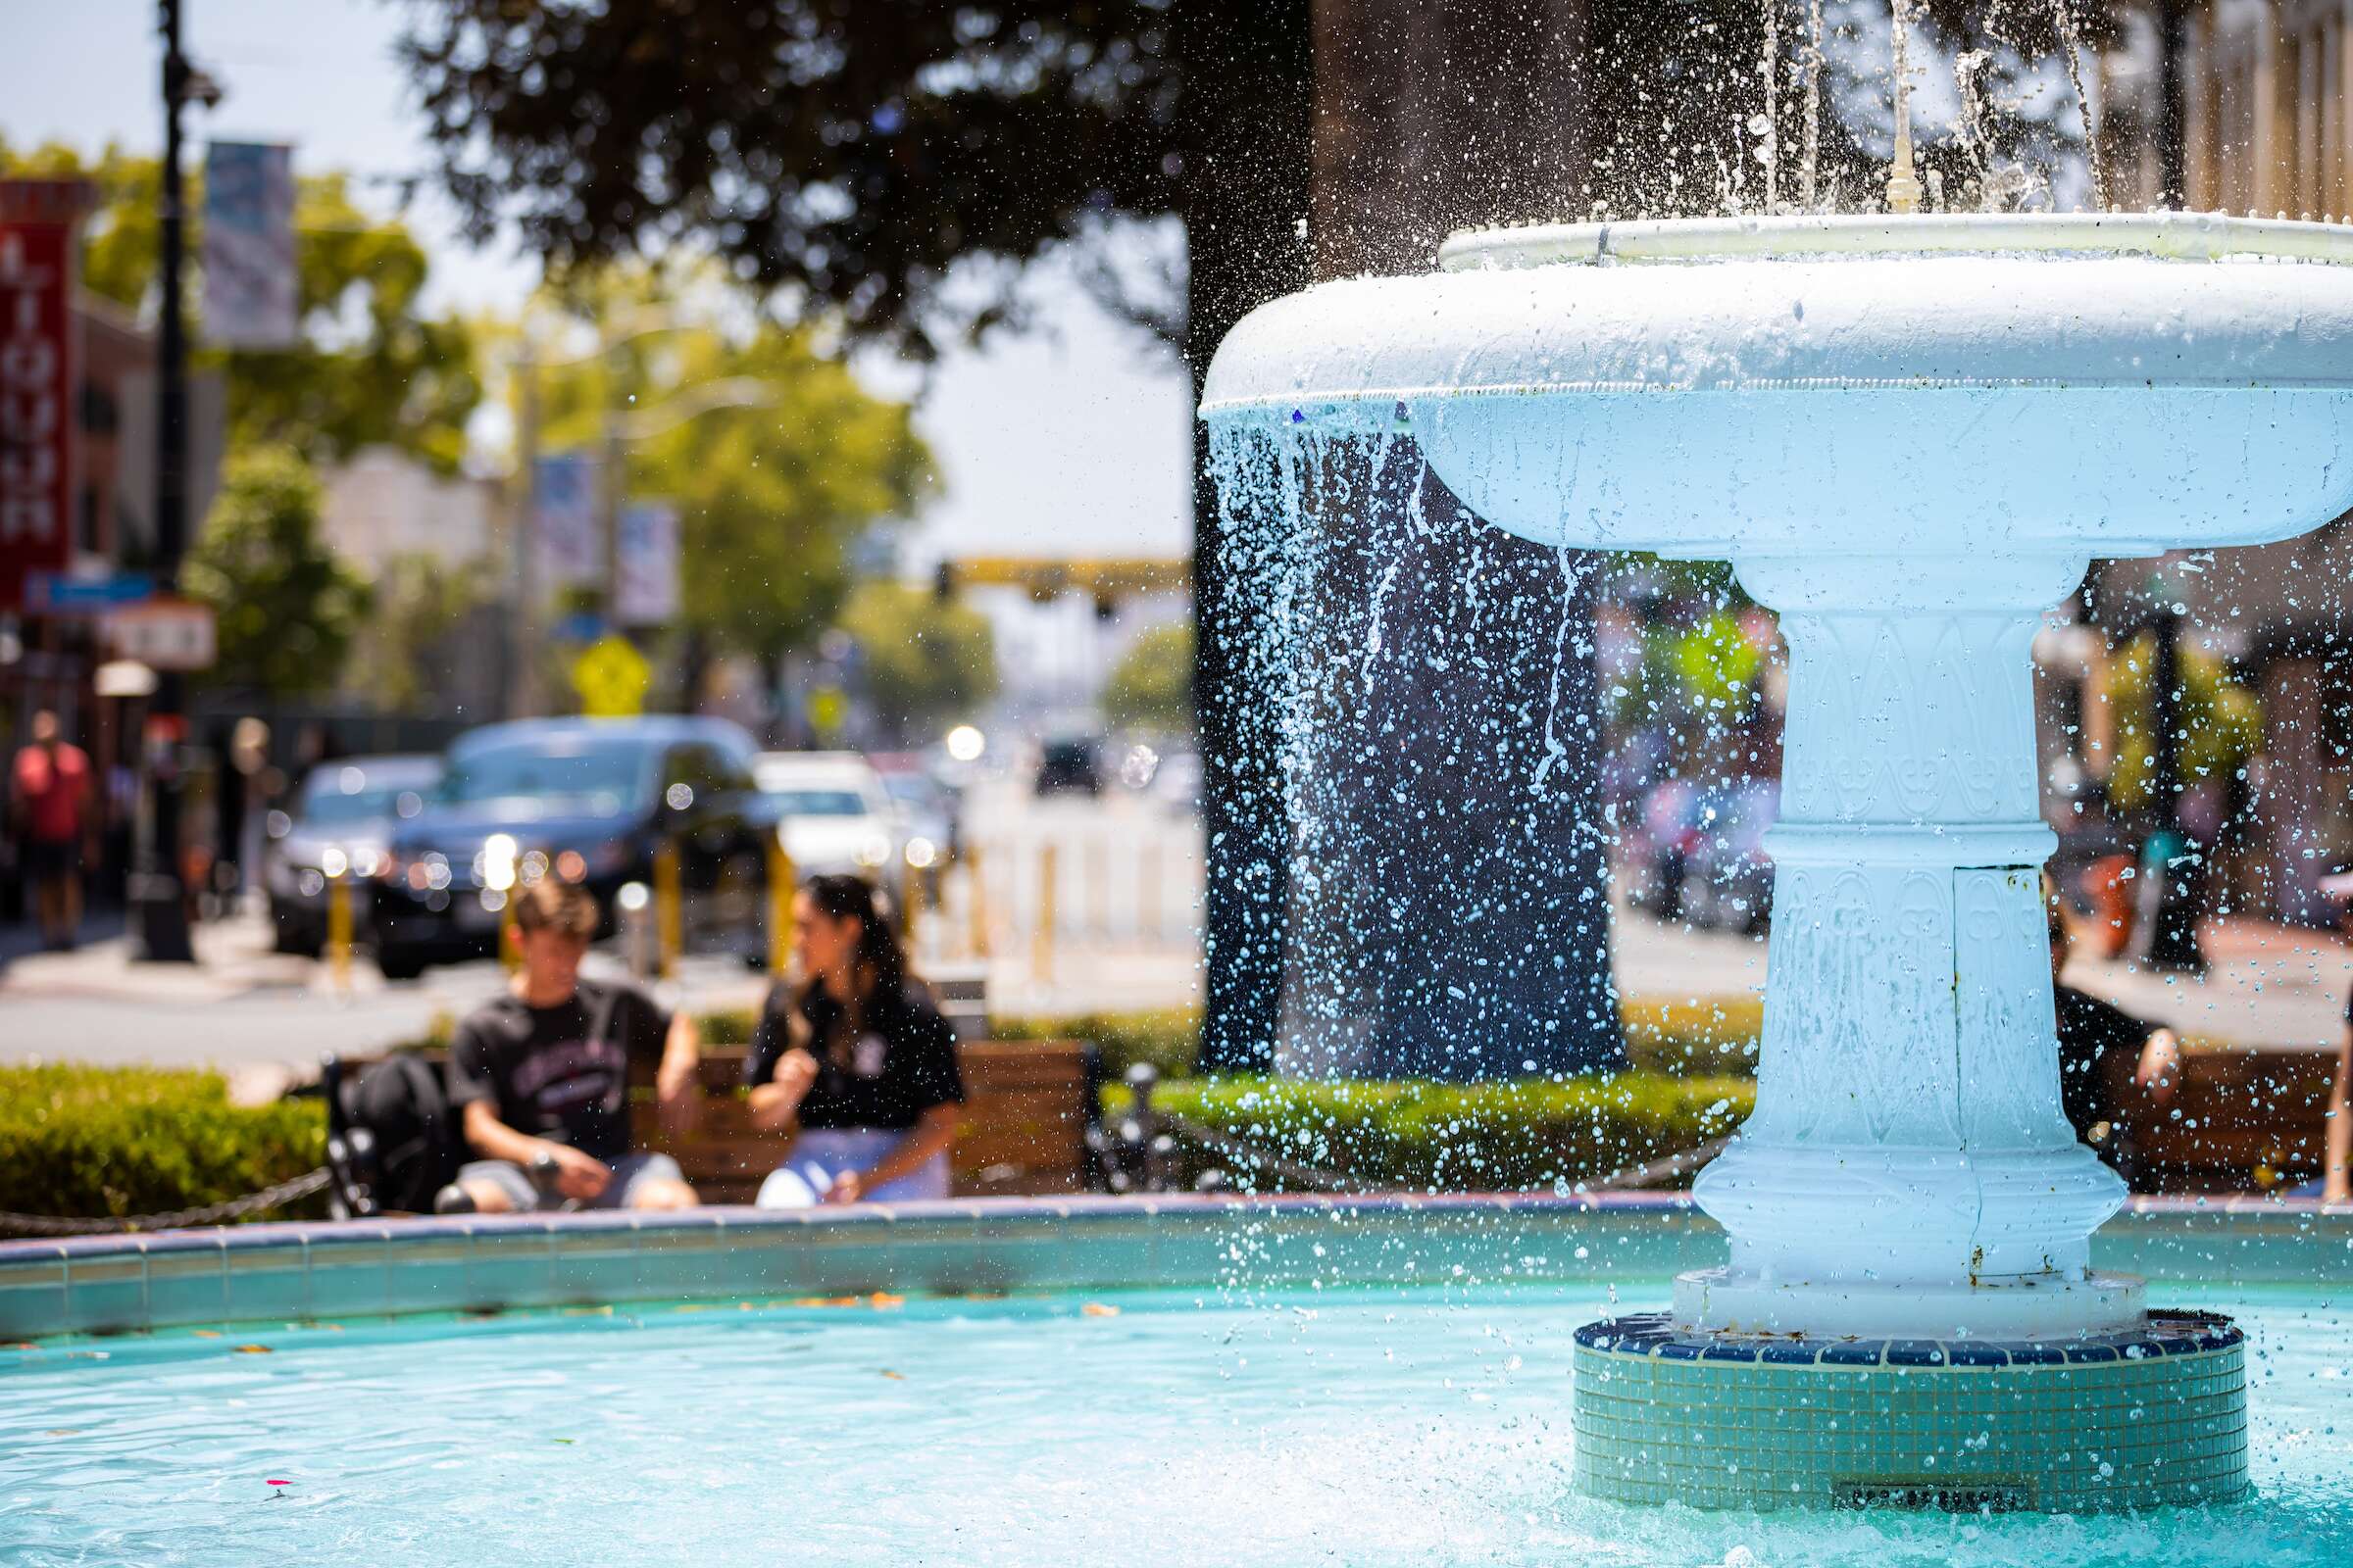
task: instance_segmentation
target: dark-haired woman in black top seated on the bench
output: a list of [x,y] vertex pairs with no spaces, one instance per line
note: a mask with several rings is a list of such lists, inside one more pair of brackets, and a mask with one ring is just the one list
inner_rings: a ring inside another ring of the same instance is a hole
[[948,1197],[965,1081],[955,1032],[906,971],[873,889],[812,877],[793,898],[800,983],[760,1009],[744,1081],[753,1124],[795,1133],[762,1208]]

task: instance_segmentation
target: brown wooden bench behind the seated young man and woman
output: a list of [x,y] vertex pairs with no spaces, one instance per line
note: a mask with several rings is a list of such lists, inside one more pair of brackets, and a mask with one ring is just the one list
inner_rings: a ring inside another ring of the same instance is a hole
[[[419,1051],[447,1072],[447,1051]],[[965,1074],[965,1119],[948,1164],[958,1197],[1052,1194],[1087,1187],[1089,1046],[1075,1039],[976,1039],[955,1046]],[[355,1079],[381,1058],[344,1058]],[[741,1093],[744,1046],[704,1048],[704,1105],[696,1128],[671,1138],[652,1107],[654,1063],[631,1065],[642,1147],[678,1161],[706,1204],[748,1204],[784,1161],[788,1138],[755,1131]]]

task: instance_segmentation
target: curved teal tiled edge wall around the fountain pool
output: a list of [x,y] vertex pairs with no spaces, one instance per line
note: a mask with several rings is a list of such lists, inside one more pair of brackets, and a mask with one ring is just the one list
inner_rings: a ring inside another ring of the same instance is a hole
[[[0,1340],[866,1291],[1664,1279],[1720,1260],[1722,1232],[1680,1194],[1073,1197],[247,1225],[0,1244]],[[2144,1199],[2099,1234],[2097,1262],[2160,1284],[2353,1281],[2353,1213]]]

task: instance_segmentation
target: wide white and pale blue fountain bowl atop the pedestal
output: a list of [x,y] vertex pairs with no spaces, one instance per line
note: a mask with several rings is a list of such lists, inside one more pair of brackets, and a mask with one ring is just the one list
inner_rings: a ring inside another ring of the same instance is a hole
[[[2207,228],[1798,219],[1466,235],[1449,261],[1471,270],[1334,282],[1252,313],[1209,367],[1202,414],[1339,423],[1402,404],[1480,517],[1579,548],[2268,543],[2353,503],[2353,268],[2261,247],[2353,261],[2353,230]],[[2005,249],[1953,254],[1969,240]],[[2021,249],[2031,240],[2040,252]],[[2221,259],[2129,252],[2181,240]],[[1694,259],[1697,244],[1725,254]],[[1565,256],[1588,263],[1532,263]]]

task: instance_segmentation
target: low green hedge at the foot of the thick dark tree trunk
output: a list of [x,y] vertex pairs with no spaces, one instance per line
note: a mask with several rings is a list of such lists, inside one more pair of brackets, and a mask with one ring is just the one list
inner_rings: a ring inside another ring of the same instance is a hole
[[[1520,1079],[1504,1084],[1179,1079],[1153,1107],[1254,1150],[1329,1171],[1362,1187],[1421,1192],[1562,1190],[1694,1150],[1741,1124],[1748,1077]],[[1129,1105],[1125,1084],[1104,1110]],[[1238,1185],[1278,1190],[1271,1168],[1186,1145],[1188,1178],[1224,1168]]]

